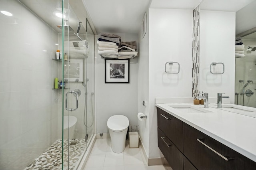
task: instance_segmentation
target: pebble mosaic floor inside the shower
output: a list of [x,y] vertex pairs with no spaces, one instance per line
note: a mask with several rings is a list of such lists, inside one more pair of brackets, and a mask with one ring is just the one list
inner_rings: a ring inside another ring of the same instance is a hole
[[[68,143],[69,142],[69,143]],[[64,140],[63,166],[68,167],[69,145],[69,170],[73,170],[86,148],[84,139]],[[62,169],[62,140],[56,140],[44,153],[29,164],[24,170],[61,170]]]

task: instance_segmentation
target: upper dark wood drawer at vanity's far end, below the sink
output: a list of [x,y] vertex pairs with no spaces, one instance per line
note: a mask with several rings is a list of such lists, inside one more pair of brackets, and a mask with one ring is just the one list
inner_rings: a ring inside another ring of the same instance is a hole
[[182,121],[157,108],[157,125],[174,145],[183,152]]

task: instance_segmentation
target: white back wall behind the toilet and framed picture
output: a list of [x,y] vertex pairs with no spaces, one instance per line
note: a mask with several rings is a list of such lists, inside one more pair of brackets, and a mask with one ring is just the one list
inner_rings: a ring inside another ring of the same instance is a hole
[[[120,34],[123,42],[138,42],[137,34]],[[98,36],[99,38],[99,36]],[[130,59],[130,83],[105,83],[105,60],[97,56],[97,132],[108,133],[107,121],[113,115],[128,117],[137,123],[138,57]]]

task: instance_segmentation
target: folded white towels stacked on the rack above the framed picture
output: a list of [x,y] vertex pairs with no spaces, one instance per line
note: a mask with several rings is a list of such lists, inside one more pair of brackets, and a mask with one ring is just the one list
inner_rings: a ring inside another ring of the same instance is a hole
[[114,42],[97,41],[98,54],[118,54],[118,46]]

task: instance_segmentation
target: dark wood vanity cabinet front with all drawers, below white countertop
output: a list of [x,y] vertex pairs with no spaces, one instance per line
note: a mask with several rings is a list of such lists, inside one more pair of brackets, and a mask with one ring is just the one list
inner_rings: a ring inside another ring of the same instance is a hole
[[256,162],[158,108],[158,147],[173,170],[256,170]]

